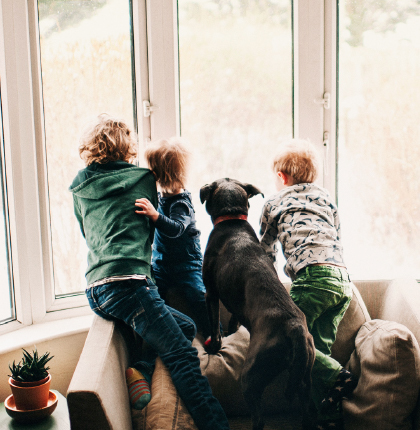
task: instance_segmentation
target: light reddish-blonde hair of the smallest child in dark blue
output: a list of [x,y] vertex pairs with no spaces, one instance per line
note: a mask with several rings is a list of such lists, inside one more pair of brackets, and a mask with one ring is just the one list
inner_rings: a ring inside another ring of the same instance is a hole
[[152,143],[146,148],[144,157],[163,191],[185,188],[190,152],[181,138]]

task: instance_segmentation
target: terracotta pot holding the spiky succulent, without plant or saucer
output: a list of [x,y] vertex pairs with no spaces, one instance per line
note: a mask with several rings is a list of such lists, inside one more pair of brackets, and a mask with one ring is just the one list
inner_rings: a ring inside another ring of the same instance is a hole
[[9,378],[16,408],[24,411],[45,408],[50,393],[51,375],[40,381],[19,382]]

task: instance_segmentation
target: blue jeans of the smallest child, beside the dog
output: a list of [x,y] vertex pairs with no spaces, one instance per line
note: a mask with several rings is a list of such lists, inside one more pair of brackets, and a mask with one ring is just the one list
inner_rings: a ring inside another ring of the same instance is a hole
[[[168,293],[174,292],[177,302],[182,303],[180,310],[193,319],[198,332],[207,339],[211,329],[201,268],[191,268],[191,270],[176,273],[154,269],[153,276],[162,299],[167,301]],[[170,301],[169,303],[172,304]]]

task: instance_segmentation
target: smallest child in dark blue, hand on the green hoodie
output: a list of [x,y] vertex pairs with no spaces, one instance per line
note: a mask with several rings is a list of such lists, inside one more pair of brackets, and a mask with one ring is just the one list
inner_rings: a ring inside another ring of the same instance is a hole
[[158,186],[157,210],[146,198],[138,199],[137,213],[146,215],[154,227],[153,275],[160,296],[177,302],[177,309],[190,316],[198,333],[210,336],[210,322],[202,279],[203,256],[191,194],[185,189],[189,152],[179,138],[149,146],[145,158]]

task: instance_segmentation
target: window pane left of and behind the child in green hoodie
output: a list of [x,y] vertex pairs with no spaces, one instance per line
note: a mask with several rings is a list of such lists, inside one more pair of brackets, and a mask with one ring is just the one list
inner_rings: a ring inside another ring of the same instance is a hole
[[129,0],[40,0],[39,28],[56,295],[86,287],[86,246],[68,191],[80,131],[107,112],[134,124]]

